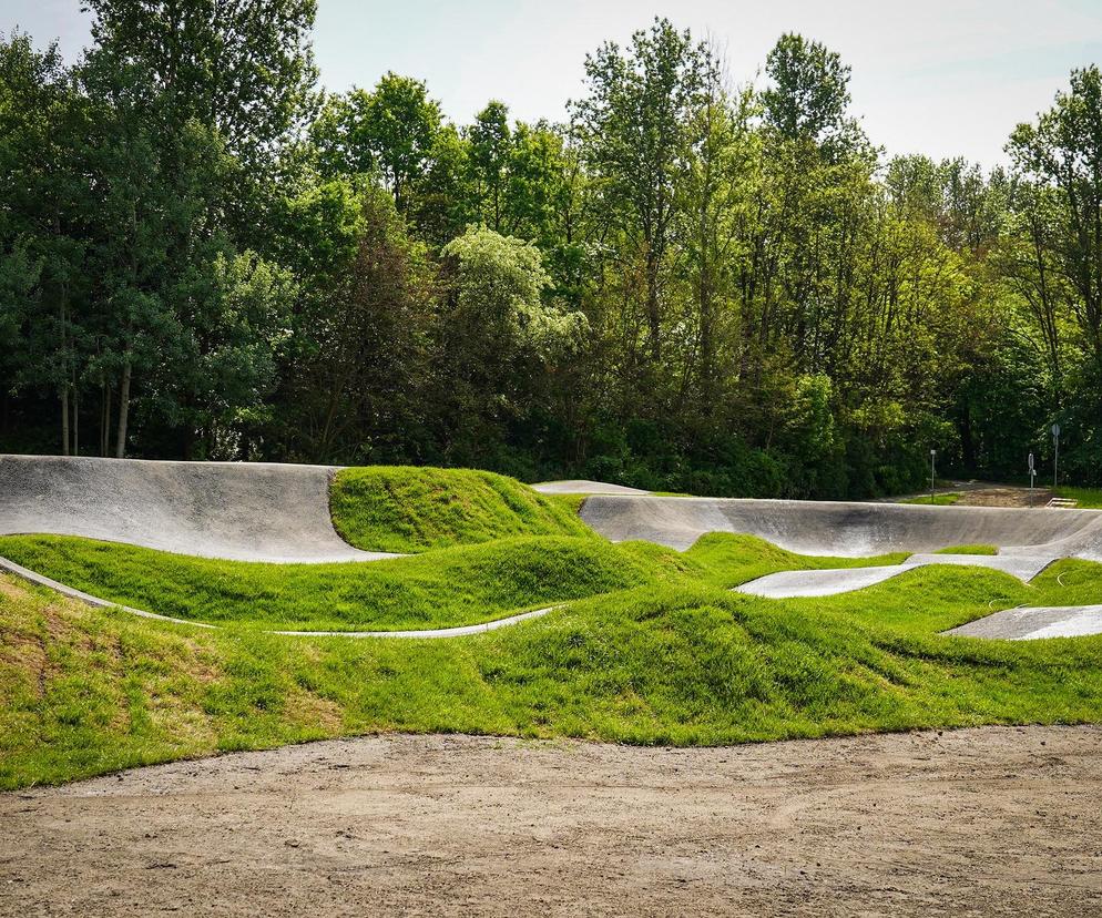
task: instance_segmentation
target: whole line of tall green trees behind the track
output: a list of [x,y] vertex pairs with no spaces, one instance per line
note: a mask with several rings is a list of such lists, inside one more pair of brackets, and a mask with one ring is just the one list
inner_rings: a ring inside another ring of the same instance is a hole
[[735,85],[656,20],[567,123],[455,125],[320,93],[312,0],[89,6],[73,65],[0,41],[0,451],[858,497],[1060,421],[1102,476],[1095,67],[984,173],[885,161],[795,34]]

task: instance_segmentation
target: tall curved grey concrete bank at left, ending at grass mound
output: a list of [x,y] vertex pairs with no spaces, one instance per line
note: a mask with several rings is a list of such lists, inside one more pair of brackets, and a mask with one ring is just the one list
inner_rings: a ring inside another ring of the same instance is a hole
[[0,456],[0,534],[84,536],[236,561],[370,561],[334,530],[335,469]]

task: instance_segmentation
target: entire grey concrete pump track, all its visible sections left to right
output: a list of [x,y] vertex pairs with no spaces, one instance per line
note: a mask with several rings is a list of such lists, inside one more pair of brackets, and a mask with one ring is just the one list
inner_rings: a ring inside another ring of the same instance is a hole
[[[364,562],[399,555],[360,551],[333,527],[328,466],[0,457],[0,534],[80,536],[180,554],[268,563]],[[757,536],[802,554],[914,552],[901,564],[783,571],[737,588],[782,599],[859,590],[926,564],[996,569],[1029,581],[1062,558],[1102,561],[1102,511],[921,507],[833,501],[654,497],[595,481],[545,482],[545,493],[585,493],[581,517],[612,541],[646,540],[680,551],[708,532]],[[997,545],[996,555],[935,554]],[[0,569],[83,602],[118,606],[7,559]],[[124,611],[196,625],[142,610]],[[456,638],[544,615],[539,609],[435,631],[275,632],[303,636]],[[211,628],[211,625],[200,625]],[[1102,605],[1019,608],[952,634],[1024,640],[1102,632]]]

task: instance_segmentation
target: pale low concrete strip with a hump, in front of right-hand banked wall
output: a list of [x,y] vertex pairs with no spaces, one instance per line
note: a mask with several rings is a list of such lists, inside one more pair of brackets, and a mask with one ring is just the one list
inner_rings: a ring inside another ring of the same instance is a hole
[[1030,581],[1055,558],[1034,554],[912,554],[901,564],[876,568],[838,568],[819,571],[780,571],[736,586],[739,593],[768,599],[829,596],[861,590],[927,564],[990,568]]

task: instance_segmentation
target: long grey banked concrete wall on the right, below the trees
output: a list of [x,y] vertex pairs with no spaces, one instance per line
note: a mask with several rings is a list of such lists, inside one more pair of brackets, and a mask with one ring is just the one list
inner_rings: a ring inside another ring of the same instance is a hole
[[1102,561],[1102,510],[598,494],[581,516],[614,542],[644,539],[682,551],[707,532],[736,532],[800,554],[859,558],[991,544],[1000,554]]

